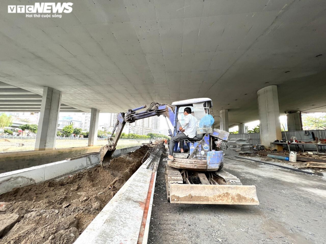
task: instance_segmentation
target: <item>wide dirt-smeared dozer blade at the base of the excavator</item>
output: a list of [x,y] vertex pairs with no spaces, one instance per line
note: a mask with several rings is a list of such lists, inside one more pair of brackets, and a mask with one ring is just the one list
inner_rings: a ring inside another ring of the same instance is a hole
[[170,202],[259,205],[254,185],[170,184]]

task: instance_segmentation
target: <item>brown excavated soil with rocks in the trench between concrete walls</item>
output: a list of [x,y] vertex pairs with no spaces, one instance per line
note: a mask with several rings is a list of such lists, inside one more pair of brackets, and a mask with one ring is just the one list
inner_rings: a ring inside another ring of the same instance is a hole
[[73,243],[139,168],[148,149],[142,146],[112,159],[109,165],[1,195],[0,226],[4,231],[0,243]]

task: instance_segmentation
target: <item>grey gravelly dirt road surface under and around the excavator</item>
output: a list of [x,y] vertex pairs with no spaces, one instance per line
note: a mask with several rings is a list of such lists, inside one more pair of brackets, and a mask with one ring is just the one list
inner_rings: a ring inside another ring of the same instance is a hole
[[224,169],[256,185],[260,205],[170,204],[160,163],[148,243],[326,243],[326,180],[271,165],[225,158]]

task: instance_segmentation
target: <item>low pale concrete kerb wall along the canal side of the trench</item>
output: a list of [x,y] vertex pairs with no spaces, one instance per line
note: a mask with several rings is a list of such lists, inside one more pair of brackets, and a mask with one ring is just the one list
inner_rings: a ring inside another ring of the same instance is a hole
[[[139,149],[140,146],[117,149],[113,157],[120,156]],[[14,188],[31,185],[34,183],[51,180],[85,168],[93,167],[100,162],[99,153],[75,160],[63,160],[54,163],[19,169],[0,174],[0,194],[11,191]]]

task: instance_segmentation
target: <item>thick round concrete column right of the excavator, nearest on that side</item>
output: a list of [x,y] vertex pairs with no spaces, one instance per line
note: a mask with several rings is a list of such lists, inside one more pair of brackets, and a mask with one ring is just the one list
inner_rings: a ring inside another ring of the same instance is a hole
[[[277,86],[268,86],[257,91],[260,120],[260,143],[271,148],[270,142],[282,140],[280,110],[278,107]],[[271,149],[282,150],[281,145]]]

